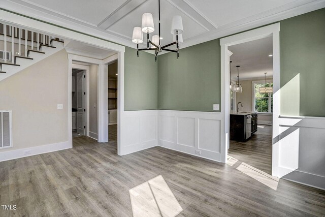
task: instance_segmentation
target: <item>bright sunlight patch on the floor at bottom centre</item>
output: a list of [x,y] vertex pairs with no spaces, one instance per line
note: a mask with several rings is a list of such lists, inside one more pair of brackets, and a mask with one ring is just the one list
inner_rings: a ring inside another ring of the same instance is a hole
[[130,189],[129,194],[134,217],[172,217],[183,211],[161,175]]

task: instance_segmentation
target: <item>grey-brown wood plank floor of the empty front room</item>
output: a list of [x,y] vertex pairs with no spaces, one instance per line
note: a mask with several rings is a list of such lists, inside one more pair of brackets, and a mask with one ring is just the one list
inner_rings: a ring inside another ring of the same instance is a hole
[[[112,129],[112,128],[111,128]],[[118,156],[116,141],[73,139],[71,149],[0,163],[0,216],[132,216],[129,190],[161,175],[178,216],[324,216],[325,191],[280,179],[276,190],[243,165],[163,147]]]

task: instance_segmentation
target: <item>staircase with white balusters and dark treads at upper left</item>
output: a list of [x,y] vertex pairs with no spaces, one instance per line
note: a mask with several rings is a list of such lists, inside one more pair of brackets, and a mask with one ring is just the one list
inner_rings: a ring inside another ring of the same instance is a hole
[[63,48],[58,38],[0,23],[0,81]]

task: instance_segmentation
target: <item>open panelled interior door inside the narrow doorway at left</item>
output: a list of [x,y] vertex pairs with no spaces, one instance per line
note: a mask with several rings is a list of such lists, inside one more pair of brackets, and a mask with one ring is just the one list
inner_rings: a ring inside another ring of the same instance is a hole
[[77,133],[85,135],[85,71],[78,72],[77,79]]

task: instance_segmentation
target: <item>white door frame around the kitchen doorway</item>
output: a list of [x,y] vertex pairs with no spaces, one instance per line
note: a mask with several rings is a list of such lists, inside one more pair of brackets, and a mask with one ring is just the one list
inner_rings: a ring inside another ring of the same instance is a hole
[[273,40],[273,126],[272,126],[272,175],[279,176],[279,144],[274,138],[279,135],[280,116],[280,23],[249,30],[220,39],[221,52],[221,162],[227,162],[230,123],[230,89],[228,47],[257,39],[272,37]]

